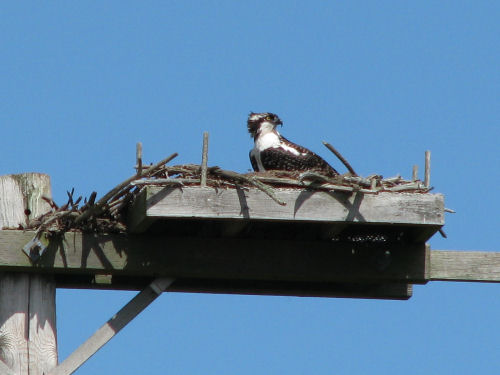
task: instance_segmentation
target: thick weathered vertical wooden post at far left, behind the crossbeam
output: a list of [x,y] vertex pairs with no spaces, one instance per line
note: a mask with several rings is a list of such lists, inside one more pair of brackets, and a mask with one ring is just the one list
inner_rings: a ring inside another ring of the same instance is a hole
[[[24,226],[50,210],[50,178],[0,176],[0,229]],[[10,251],[21,251],[11,249]],[[55,283],[50,276],[0,273],[0,360],[18,375],[42,375],[57,365]],[[5,366],[3,366],[5,367]]]

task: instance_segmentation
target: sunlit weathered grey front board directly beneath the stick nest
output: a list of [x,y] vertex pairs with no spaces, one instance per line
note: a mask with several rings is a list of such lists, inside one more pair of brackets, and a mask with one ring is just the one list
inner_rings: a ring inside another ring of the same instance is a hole
[[[249,189],[148,186],[129,212],[130,228],[141,232],[151,219],[219,218],[314,222],[355,222],[437,226],[444,224],[441,194],[327,193],[276,189],[287,204],[276,204]],[[437,229],[436,229],[437,230]]]

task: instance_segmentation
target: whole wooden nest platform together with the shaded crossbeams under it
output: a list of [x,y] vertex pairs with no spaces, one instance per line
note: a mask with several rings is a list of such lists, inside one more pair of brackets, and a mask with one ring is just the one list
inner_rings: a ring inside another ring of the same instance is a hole
[[69,232],[32,265],[33,232],[0,231],[0,270],[50,273],[58,287],[408,299],[430,279],[425,241],[443,196],[147,187],[129,234]]

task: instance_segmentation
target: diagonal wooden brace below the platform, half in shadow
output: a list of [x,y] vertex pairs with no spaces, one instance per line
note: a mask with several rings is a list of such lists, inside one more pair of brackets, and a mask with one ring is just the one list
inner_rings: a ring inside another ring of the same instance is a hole
[[111,340],[120,330],[148,307],[172,283],[172,279],[158,278],[137,294],[129,303],[99,328],[87,341],[69,355],[48,375],[70,375]]

